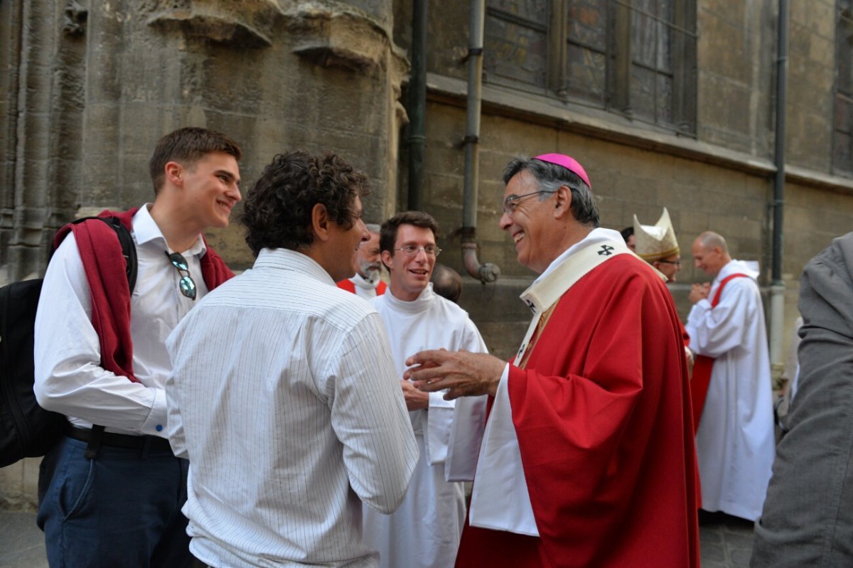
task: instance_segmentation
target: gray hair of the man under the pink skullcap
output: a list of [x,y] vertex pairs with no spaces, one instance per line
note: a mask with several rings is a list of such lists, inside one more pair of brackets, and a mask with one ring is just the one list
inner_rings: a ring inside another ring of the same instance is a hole
[[504,169],[503,183],[509,183],[509,180],[522,170],[531,172],[531,175],[537,179],[539,188],[548,192],[540,195],[539,200],[548,199],[549,194],[553,194],[565,185],[572,191],[572,216],[575,217],[575,221],[594,228],[601,226],[595,195],[576,173],[562,165],[519,156],[509,162]]

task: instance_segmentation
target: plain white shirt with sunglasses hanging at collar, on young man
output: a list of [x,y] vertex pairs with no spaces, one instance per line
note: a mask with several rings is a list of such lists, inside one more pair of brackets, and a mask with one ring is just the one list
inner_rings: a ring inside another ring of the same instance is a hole
[[[195,301],[185,298],[181,275],[166,256],[173,252],[151,214],[150,204],[133,217],[136,287],[131,295],[133,372],[138,383],[101,367],[101,344],[91,324],[89,282],[73,233],[56,249],[44,275],[35,322],[35,385],[38,403],[66,414],[77,426],[107,426],[106,432],[153,434],[165,438],[163,386],[171,365],[165,339],[207,293],[199,258],[199,237],[180,251],[195,282]],[[118,260],[117,260],[118,262]]]

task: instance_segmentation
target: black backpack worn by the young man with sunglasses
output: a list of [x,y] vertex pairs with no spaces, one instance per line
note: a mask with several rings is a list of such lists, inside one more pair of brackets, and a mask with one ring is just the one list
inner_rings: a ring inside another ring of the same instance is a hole
[[[118,217],[100,219],[115,230],[125,257],[127,281],[136,285],[136,246]],[[65,414],[38,406],[33,384],[33,326],[42,279],[0,287],[0,467],[25,457],[45,455],[62,435]]]

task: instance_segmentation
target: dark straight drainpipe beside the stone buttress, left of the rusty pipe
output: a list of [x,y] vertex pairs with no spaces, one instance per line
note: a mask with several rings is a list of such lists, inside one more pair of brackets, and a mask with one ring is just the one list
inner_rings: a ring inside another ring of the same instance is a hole
[[424,209],[424,146],[427,114],[427,5],[412,3],[412,72],[409,77],[409,210]]

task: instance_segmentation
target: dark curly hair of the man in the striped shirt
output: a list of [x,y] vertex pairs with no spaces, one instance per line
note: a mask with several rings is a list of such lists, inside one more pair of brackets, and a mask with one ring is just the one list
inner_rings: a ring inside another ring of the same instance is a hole
[[356,222],[353,201],[370,193],[363,171],[337,154],[311,155],[303,150],[278,154],[249,190],[243,214],[246,242],[257,257],[262,248],[292,251],[310,246],[311,210],[326,206],[328,217],[343,229]]

